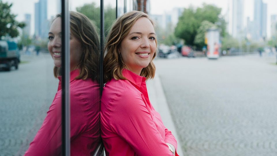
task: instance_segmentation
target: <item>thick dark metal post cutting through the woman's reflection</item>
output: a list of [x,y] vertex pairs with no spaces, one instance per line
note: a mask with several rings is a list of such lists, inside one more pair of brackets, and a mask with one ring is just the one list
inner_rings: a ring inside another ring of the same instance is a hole
[[70,93],[69,93],[69,81],[70,81],[70,22],[69,22],[69,9],[68,0],[61,0],[61,36],[62,36],[62,155],[70,156]]

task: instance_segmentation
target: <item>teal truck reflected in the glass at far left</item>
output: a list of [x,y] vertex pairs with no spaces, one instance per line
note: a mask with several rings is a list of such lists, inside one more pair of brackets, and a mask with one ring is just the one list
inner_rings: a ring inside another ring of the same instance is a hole
[[0,68],[10,71],[12,66],[18,69],[20,54],[16,42],[0,40]]

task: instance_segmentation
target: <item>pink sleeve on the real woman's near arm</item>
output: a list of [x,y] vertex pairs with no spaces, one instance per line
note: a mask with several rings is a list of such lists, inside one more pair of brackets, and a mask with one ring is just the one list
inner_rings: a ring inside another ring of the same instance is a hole
[[128,142],[137,155],[172,156],[140,95],[123,92],[111,116],[112,130]]

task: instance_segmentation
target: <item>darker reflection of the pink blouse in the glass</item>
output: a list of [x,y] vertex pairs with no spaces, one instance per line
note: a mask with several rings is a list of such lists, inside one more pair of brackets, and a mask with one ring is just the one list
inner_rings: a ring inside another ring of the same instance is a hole
[[[100,90],[91,79],[74,79],[78,69],[70,72],[70,153],[91,155],[100,142]],[[46,118],[26,156],[61,155],[61,77]]]

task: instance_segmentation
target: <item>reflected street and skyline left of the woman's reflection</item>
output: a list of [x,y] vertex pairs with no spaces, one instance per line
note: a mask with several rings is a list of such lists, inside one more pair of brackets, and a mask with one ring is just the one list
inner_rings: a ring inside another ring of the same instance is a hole
[[[1,32],[10,32],[0,35],[1,60],[2,56],[5,57],[3,60],[10,59],[10,56],[17,60],[0,63],[0,81],[3,82],[0,90],[0,155],[25,153],[42,125],[57,90],[57,80],[51,75],[53,61],[47,50],[50,18],[45,2],[0,1],[1,8],[6,8],[0,10],[1,15],[5,11],[17,14],[10,19],[25,25],[8,31],[7,28],[14,27],[14,23],[6,20],[7,27],[1,26]],[[9,18],[1,17],[1,22],[2,19]],[[2,43],[7,47],[2,48]]]

